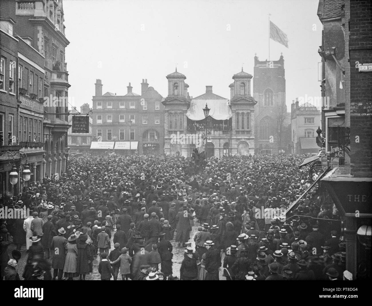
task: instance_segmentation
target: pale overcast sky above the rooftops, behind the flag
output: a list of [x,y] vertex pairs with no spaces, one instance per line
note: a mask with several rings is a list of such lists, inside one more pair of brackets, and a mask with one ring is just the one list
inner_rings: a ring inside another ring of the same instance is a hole
[[[94,83],[103,93],[141,94],[147,79],[163,97],[166,75],[186,76],[190,96],[213,92],[230,99],[232,75],[253,75],[254,54],[269,59],[270,20],[288,46],[270,40],[270,60],[283,53],[287,111],[296,97],[321,95],[317,50],[318,0],[64,0],[68,96],[92,106]],[[253,92],[251,92],[253,95]]]

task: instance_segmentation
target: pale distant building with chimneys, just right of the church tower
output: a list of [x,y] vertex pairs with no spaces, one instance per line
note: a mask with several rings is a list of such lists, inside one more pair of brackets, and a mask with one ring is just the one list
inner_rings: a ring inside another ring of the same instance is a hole
[[291,104],[291,129],[294,154],[318,153],[317,129],[321,126],[321,111],[309,102]]

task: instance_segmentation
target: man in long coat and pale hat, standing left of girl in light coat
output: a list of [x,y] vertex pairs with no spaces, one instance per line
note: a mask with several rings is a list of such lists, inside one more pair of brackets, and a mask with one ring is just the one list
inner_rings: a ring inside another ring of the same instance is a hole
[[62,280],[63,269],[65,264],[65,247],[67,239],[63,236],[66,233],[65,229],[61,227],[58,229],[58,235],[52,238],[51,249],[53,250],[52,268],[53,280],[58,276],[58,280]]

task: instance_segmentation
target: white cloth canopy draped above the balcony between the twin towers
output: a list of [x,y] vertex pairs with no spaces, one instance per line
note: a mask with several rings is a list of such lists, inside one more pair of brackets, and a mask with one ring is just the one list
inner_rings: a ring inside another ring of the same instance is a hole
[[195,121],[205,119],[203,108],[208,104],[209,116],[216,120],[228,120],[232,117],[228,100],[191,100],[190,107],[187,110],[187,118]]

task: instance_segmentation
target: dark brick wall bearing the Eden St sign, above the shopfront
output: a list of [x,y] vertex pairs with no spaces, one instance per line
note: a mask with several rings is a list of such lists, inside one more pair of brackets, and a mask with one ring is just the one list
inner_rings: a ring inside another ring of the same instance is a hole
[[371,13],[370,1],[350,1],[350,162],[356,177],[372,177],[372,72],[355,68],[356,61],[372,61]]

